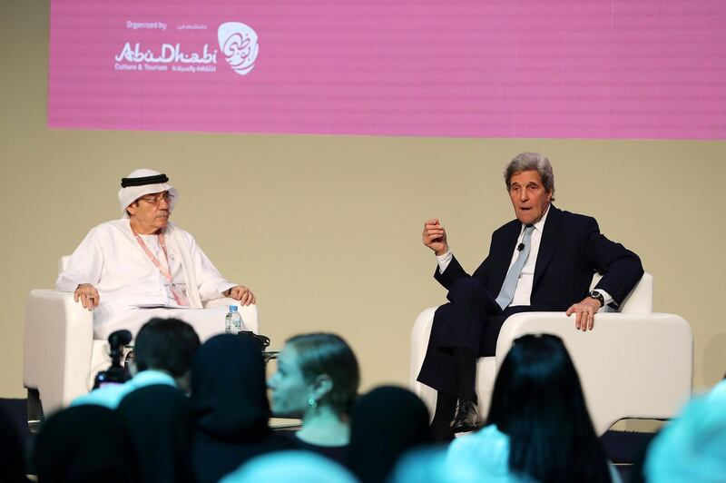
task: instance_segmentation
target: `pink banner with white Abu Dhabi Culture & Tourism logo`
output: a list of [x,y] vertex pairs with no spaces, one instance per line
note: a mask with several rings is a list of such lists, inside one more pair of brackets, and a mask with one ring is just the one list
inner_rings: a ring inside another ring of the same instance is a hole
[[721,0],[53,0],[48,125],[726,138]]

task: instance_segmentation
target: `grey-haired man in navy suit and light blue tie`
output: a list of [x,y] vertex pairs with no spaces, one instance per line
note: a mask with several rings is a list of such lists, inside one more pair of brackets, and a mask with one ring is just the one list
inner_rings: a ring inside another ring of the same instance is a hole
[[[522,311],[575,314],[575,330],[593,330],[594,313],[619,305],[643,276],[638,256],[604,237],[594,218],[554,207],[552,164],[521,153],[505,170],[516,220],[492,234],[489,254],[469,275],[449,251],[437,219],[423,242],[437,255],[434,278],[448,303],[434,316],[418,380],[437,389],[432,427],[440,439],[478,426],[476,358],[495,354],[505,319]],[[603,273],[588,292],[594,272]]]

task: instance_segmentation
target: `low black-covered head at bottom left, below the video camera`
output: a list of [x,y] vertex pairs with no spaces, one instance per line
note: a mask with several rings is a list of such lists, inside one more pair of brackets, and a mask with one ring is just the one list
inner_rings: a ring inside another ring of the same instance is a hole
[[41,426],[34,451],[40,483],[132,483],[139,464],[129,430],[113,409],[64,409]]

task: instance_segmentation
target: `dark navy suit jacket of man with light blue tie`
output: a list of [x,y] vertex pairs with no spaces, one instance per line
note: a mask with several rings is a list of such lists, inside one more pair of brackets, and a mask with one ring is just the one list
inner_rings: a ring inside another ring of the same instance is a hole
[[[444,273],[437,268],[434,278],[448,290],[454,281],[473,276],[495,298],[505,281],[521,230],[518,220],[496,230],[489,254],[474,275],[466,273],[453,258]],[[566,311],[587,295],[595,271],[603,273],[595,288],[607,291],[617,306],[643,276],[643,265],[633,251],[605,238],[594,218],[550,205],[535,263],[532,309]]]

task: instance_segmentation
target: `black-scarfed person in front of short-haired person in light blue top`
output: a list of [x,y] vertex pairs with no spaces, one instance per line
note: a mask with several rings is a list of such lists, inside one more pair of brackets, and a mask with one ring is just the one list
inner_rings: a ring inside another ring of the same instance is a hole
[[118,409],[141,463],[145,483],[193,482],[191,441],[194,416],[190,399],[177,388],[154,384],[136,389]]

